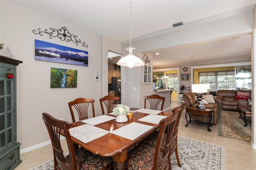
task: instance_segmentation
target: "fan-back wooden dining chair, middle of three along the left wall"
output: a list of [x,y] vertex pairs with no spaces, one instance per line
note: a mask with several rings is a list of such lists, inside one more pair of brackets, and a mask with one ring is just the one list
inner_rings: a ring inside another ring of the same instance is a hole
[[78,113],[79,121],[82,121],[88,119],[88,107],[92,104],[92,117],[95,117],[94,101],[94,99],[78,98],[68,103],[73,123],[76,122],[73,107]]

